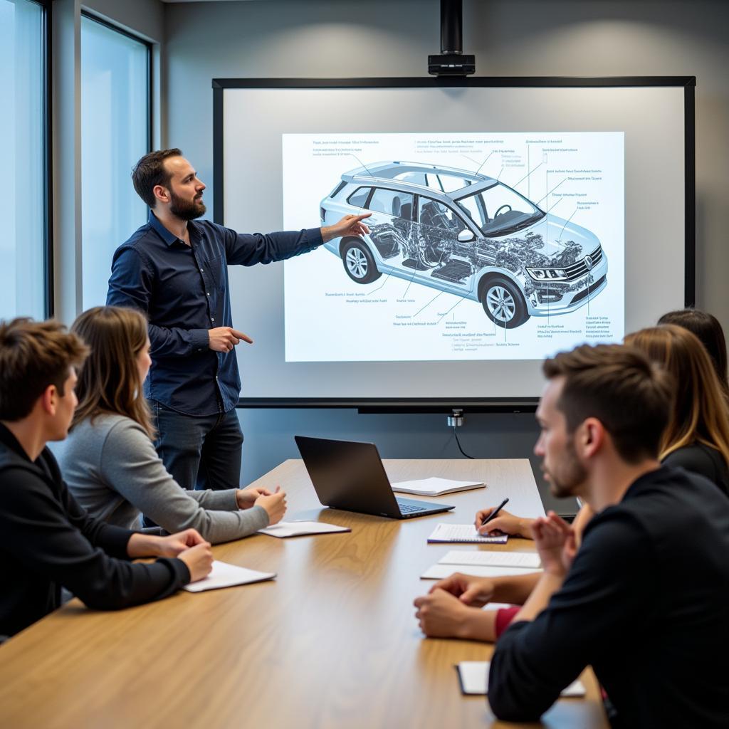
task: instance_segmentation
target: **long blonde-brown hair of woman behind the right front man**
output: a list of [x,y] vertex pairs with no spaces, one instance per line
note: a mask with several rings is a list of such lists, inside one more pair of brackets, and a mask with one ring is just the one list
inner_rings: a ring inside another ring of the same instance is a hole
[[674,376],[674,407],[660,443],[660,459],[693,443],[719,451],[729,464],[729,412],[712,360],[701,341],[675,324],[625,337]]

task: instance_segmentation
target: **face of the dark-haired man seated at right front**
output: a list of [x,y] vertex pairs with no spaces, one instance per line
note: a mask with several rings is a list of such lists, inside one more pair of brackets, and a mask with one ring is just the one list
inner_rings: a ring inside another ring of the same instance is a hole
[[587,478],[587,471],[577,457],[575,434],[567,430],[567,420],[558,408],[564,378],[554,378],[545,385],[537,408],[539,438],[534,453],[542,458],[542,472],[553,496],[561,499],[576,496]]

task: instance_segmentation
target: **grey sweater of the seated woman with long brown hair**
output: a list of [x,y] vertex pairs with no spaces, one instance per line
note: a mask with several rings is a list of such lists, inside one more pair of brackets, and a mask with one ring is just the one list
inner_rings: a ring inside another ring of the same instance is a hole
[[268,513],[238,510],[235,488],[184,491],[165,469],[149,436],[131,418],[101,415],[80,422],[52,451],[63,479],[95,518],[139,529],[140,512],[165,531],[197,529],[209,542],[227,542],[268,526]]

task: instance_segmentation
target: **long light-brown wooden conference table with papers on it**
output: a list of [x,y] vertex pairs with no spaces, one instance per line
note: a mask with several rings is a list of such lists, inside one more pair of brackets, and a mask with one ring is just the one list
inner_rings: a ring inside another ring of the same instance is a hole
[[[180,592],[120,612],[74,600],[0,647],[0,726],[130,728],[390,728],[513,726],[483,697],[461,695],[454,664],[487,660],[491,646],[424,639],[413,599],[421,572],[451,548],[428,545],[436,523],[469,523],[510,497],[543,513],[529,461],[389,460],[391,480],[429,475],[483,480],[448,494],[446,514],[394,521],[322,509],[301,461],[255,482],[280,483],[286,518],[313,518],[351,533],[274,539],[257,534],[214,547],[217,559],[277,572],[261,582]],[[585,699],[563,699],[544,717],[559,728],[607,727],[596,681]]]

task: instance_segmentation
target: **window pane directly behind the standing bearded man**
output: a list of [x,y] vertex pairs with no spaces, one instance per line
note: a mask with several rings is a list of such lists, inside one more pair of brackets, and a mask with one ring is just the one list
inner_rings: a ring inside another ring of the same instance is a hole
[[81,18],[83,308],[106,303],[112,255],[147,220],[130,172],[149,151],[149,46]]

